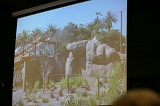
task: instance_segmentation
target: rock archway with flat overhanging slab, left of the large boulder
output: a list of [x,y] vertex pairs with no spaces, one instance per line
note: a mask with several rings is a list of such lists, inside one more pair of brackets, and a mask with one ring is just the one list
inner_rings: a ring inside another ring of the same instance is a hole
[[67,45],[67,50],[70,51],[66,61],[65,74],[81,74],[81,68],[85,69],[85,54],[87,40],[73,42]]

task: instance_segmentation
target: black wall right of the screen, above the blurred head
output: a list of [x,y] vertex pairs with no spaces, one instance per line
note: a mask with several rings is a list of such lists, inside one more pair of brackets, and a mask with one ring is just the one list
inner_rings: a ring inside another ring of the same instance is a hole
[[160,93],[160,11],[157,0],[128,0],[128,89]]

